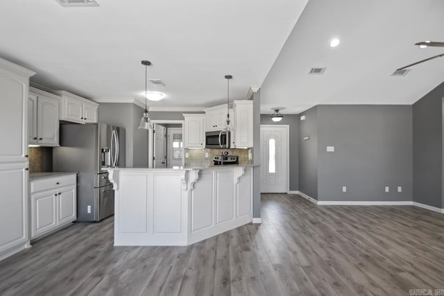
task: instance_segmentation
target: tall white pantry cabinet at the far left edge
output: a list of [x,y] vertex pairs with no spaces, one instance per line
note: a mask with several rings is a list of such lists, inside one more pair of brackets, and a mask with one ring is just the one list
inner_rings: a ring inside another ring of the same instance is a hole
[[0,58],[0,260],[30,246],[28,96],[34,74]]

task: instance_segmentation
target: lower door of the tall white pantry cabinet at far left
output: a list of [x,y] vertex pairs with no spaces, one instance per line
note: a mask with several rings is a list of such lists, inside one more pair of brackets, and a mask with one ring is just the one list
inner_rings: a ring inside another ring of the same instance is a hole
[[0,258],[28,241],[27,163],[0,164]]

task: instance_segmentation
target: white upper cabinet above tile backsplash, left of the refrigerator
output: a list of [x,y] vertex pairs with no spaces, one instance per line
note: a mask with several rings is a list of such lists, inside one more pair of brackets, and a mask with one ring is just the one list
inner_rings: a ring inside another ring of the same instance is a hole
[[28,143],[59,146],[59,104],[59,96],[30,87]]

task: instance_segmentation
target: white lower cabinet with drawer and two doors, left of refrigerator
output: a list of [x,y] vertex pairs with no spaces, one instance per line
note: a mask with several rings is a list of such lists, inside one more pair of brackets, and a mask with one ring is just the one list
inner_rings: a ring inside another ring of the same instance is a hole
[[76,175],[31,180],[31,238],[77,218]]

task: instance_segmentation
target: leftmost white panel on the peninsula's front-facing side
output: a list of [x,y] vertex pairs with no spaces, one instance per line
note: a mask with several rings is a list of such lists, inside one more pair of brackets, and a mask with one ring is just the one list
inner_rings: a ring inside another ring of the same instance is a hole
[[148,176],[123,173],[121,175],[119,211],[120,233],[147,233],[148,209],[146,199]]

